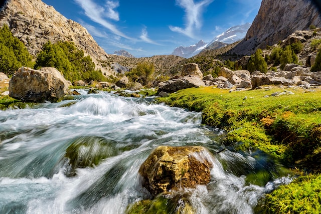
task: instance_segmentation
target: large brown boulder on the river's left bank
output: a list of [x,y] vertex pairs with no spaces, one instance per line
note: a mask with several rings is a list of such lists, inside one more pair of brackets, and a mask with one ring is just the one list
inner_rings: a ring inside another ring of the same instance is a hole
[[26,102],[57,102],[69,93],[68,88],[68,82],[56,68],[21,67],[9,81],[9,96]]

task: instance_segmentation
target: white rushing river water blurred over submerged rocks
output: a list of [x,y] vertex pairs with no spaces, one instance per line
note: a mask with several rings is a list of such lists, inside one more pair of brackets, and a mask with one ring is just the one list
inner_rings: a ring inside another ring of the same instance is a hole
[[[210,184],[186,190],[196,213],[252,213],[275,184],[246,180],[262,170],[272,174],[268,158],[216,154],[224,133],[201,125],[201,113],[80,92],[74,100],[0,111],[0,213],[124,213],[150,196],[138,169],[159,145],[201,145],[214,154]],[[110,155],[70,176],[66,149],[80,141],[107,142]]]

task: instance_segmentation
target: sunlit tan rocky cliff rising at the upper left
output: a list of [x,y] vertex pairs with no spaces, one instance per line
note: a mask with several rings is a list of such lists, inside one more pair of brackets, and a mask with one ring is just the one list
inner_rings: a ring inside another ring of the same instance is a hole
[[51,41],[72,41],[90,55],[97,68],[110,73],[98,63],[107,60],[108,55],[80,24],[65,18],[52,6],[41,0],[10,0],[0,13],[0,26],[8,25],[28,51],[36,56],[44,43]]

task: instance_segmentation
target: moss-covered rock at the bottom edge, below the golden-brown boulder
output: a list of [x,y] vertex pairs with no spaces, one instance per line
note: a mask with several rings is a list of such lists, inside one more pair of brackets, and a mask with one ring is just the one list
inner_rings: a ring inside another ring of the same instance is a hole
[[141,200],[128,206],[126,214],[194,214],[192,205],[183,195],[158,195],[153,200]]

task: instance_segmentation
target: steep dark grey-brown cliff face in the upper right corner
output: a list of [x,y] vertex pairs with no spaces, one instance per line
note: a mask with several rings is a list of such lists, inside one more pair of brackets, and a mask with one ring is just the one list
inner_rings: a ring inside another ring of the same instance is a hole
[[277,44],[297,30],[321,27],[321,16],[311,0],[263,0],[245,39],[232,52],[249,55]]

